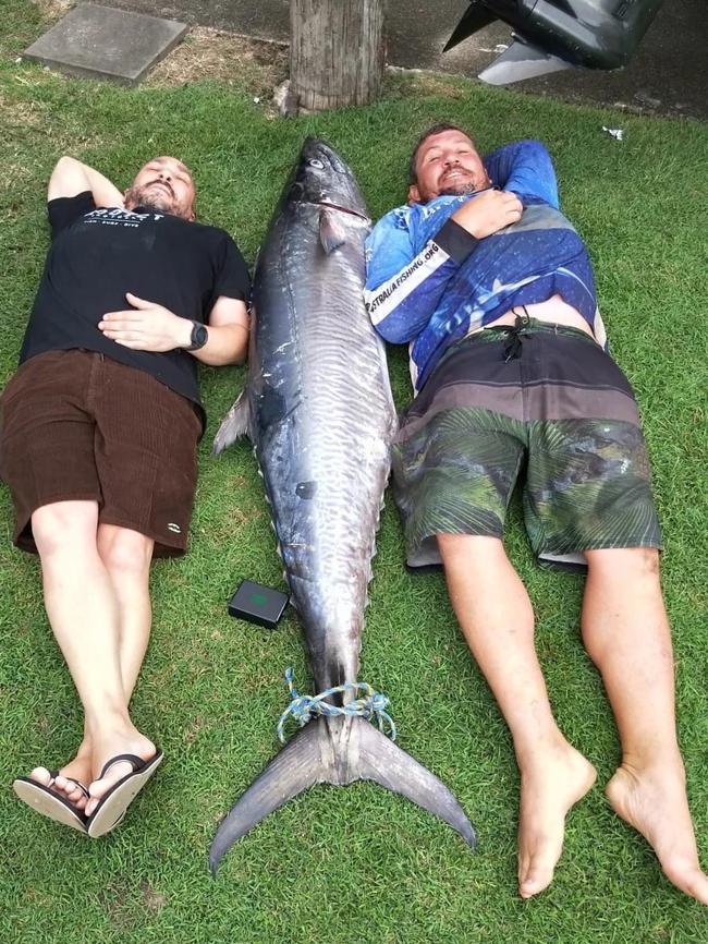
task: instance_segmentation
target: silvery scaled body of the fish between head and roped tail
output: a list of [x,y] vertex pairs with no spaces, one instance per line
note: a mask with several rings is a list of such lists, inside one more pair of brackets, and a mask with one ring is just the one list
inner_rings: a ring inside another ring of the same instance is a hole
[[270,341],[278,362],[265,373],[281,378],[295,406],[259,461],[316,688],[324,690],[356,681],[395,412],[386,352],[363,301],[369,227],[341,214],[345,241],[327,253],[319,225],[320,208],[301,204],[283,215],[274,242],[289,324],[281,330],[286,340],[274,348]]

